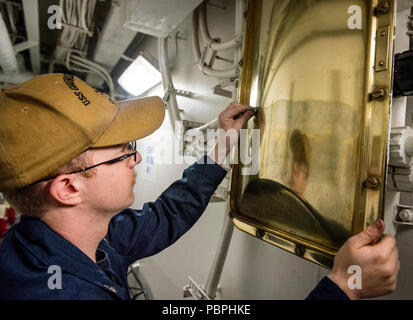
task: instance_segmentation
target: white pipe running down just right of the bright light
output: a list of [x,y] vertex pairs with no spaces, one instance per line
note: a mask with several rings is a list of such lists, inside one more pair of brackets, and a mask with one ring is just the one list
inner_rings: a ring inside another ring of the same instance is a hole
[[175,133],[176,121],[181,121],[179,114],[178,102],[176,100],[175,88],[172,82],[171,71],[168,60],[168,38],[158,38],[158,55],[159,55],[159,69],[162,75],[162,84],[166,92],[169,92],[169,98],[166,102],[169,113],[169,120],[171,127]]

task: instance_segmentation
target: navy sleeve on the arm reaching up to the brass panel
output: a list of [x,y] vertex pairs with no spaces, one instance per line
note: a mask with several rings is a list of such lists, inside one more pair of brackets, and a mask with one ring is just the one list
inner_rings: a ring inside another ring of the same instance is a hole
[[204,156],[156,201],[145,203],[142,210],[126,209],[113,217],[106,240],[128,264],[160,252],[195,224],[226,173]]

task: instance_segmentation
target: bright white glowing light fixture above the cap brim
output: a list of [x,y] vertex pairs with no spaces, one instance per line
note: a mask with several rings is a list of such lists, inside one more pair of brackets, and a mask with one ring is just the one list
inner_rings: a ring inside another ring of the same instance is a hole
[[141,55],[131,63],[118,79],[119,85],[133,96],[141,95],[161,81],[160,72]]

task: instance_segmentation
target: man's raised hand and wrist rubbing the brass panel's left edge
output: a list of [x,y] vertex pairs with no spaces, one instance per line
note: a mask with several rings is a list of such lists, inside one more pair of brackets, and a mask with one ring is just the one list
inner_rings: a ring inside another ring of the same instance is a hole
[[240,130],[254,114],[252,107],[237,102],[230,103],[219,114],[217,143],[209,152],[212,160],[220,165],[225,161],[232,146],[238,142]]

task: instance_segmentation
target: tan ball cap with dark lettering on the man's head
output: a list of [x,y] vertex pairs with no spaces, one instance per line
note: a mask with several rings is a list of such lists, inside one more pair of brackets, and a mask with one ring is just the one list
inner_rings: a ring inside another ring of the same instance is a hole
[[25,187],[89,148],[123,144],[157,130],[159,97],[116,102],[65,74],[37,76],[0,91],[0,191]]

